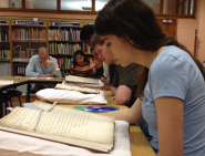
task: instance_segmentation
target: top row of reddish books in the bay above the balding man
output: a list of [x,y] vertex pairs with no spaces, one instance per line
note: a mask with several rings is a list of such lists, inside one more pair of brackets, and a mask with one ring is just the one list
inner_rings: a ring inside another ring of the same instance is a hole
[[45,29],[13,29],[13,41],[47,41]]

